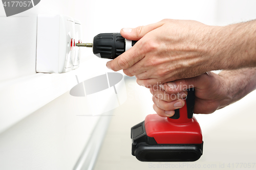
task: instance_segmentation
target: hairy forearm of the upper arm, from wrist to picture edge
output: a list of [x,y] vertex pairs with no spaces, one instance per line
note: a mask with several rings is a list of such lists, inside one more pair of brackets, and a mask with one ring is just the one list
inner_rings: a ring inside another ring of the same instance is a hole
[[[215,69],[238,69],[256,66],[256,20],[217,27],[212,42]],[[217,61],[216,61],[217,60]]]

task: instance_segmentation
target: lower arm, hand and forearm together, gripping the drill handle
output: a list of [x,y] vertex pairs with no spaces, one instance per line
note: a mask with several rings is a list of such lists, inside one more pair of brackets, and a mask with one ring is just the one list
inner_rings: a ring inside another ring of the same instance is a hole
[[[150,89],[153,94],[153,108],[158,115],[170,117],[174,110],[184,106],[186,89],[195,89],[195,113],[213,113],[229,104],[239,101],[256,89],[256,68],[223,70],[219,75],[213,72],[168,82]],[[170,97],[172,96],[172,98]],[[182,105],[175,107],[177,102]]]

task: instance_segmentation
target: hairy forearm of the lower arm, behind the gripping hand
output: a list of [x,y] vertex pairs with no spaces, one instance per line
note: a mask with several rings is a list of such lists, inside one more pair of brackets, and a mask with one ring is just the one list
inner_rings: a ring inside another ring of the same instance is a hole
[[223,70],[219,76],[223,78],[225,93],[229,101],[224,101],[220,108],[239,101],[256,89],[256,67],[237,70]]

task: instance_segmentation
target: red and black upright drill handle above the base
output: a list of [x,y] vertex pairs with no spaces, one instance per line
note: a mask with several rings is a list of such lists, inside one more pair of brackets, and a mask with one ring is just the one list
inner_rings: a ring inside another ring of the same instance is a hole
[[195,90],[194,88],[187,89],[187,96],[185,100],[185,105],[176,109],[175,114],[172,117],[169,117],[168,120],[173,123],[188,123],[191,121],[194,113],[195,106]]

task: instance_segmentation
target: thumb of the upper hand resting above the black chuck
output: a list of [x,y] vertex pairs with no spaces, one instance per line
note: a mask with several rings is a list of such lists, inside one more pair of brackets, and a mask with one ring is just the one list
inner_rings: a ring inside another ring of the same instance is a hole
[[129,40],[139,40],[141,39],[145,34],[148,32],[151,32],[152,30],[155,30],[159,27],[161,27],[164,24],[164,22],[157,22],[152,23],[147,26],[139,26],[137,28],[131,29],[131,28],[123,28],[120,31],[120,34],[123,38],[129,39]]

